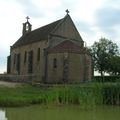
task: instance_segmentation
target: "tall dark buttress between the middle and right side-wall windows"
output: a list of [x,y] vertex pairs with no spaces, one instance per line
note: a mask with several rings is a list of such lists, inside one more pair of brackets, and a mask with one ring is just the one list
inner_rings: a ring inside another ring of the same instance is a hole
[[33,51],[28,53],[28,73],[33,72]]

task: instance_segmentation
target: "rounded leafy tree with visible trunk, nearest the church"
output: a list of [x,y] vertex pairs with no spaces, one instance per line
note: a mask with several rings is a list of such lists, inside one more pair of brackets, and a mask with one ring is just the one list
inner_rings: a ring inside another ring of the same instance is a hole
[[99,42],[95,42],[91,46],[90,52],[94,61],[94,69],[104,76],[109,69],[109,59],[118,54],[118,46],[111,40],[101,38]]

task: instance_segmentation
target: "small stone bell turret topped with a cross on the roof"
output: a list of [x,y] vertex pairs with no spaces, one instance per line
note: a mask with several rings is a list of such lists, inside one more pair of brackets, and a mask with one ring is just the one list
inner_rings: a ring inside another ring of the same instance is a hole
[[26,19],[27,19],[27,22],[23,23],[23,31],[22,31],[23,35],[32,30],[32,25],[28,21],[30,18],[27,16]]

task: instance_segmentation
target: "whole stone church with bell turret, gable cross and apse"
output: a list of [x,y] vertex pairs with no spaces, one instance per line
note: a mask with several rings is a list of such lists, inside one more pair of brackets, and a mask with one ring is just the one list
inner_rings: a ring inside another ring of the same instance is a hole
[[34,75],[43,83],[80,83],[92,78],[92,58],[69,12],[64,18],[32,30],[23,23],[22,36],[10,47],[7,74]]

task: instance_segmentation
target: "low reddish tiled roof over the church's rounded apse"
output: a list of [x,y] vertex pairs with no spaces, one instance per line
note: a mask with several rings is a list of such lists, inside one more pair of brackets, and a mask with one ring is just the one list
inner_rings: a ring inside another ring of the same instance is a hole
[[48,52],[79,52],[85,53],[85,48],[81,48],[70,40],[66,40],[53,48],[49,48]]

